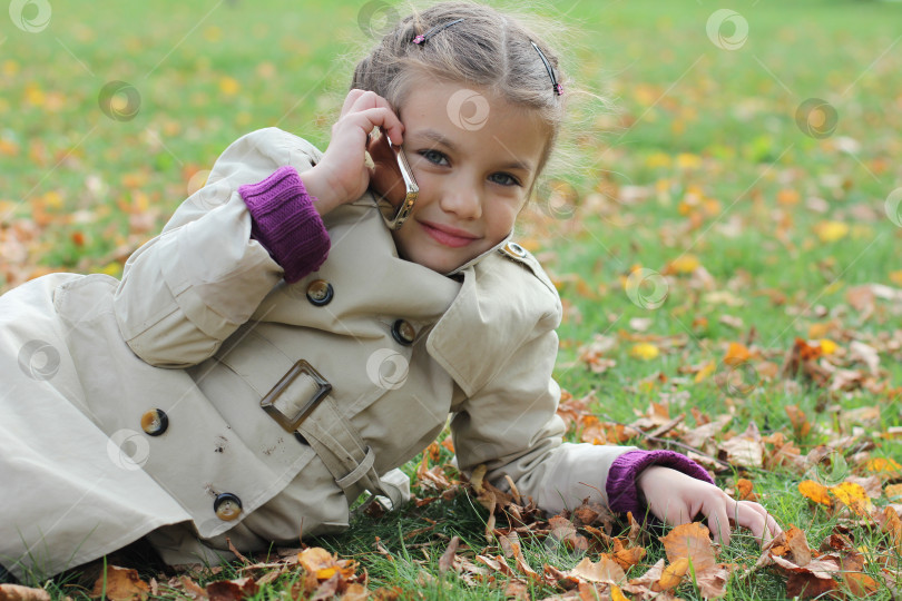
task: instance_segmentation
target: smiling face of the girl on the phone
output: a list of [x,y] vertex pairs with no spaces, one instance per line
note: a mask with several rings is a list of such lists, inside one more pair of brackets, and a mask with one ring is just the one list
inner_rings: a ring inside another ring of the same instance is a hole
[[399,117],[420,194],[392,236],[401,257],[449,273],[511,233],[548,137],[531,112],[458,83],[413,89]]

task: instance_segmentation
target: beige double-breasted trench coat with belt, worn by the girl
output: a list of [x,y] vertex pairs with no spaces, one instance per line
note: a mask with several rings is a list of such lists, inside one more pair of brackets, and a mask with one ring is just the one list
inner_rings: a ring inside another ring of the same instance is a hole
[[364,490],[404,499],[394,469],[449,414],[464,472],[486,463],[549,511],[605,501],[631,447],[561,443],[561,305],[529,253],[506,240],[434,273],[398,257],[367,193],[325,217],[323,266],[285,284],[237,189],[321,157],[249,134],[121,282],[53,274],[0,297],[0,563],[14,574],[143,535],[183,562],[217,561],[226,535],[292,544],[302,520],[305,535],[341,530]]

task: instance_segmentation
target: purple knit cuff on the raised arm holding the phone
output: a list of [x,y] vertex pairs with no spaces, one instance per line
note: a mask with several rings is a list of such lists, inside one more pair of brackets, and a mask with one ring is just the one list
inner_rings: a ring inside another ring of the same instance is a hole
[[329,233],[294,167],[238,188],[251,213],[251,237],[258,240],[293,284],[320,268],[329,256]]

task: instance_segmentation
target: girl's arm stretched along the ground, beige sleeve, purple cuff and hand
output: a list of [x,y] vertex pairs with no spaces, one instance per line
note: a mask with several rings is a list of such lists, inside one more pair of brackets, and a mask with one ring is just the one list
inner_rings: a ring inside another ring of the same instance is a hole
[[[518,306],[510,298],[518,289],[511,285],[504,302]],[[541,298],[543,289],[532,287],[528,295]],[[551,377],[559,311],[549,305],[502,368],[452,406],[451,431],[461,471],[470,473],[486,464],[487,480],[507,489],[504,476],[510,476],[521,495],[551,513],[575,509],[588,497],[616,512],[631,511],[638,520],[650,514],[671,525],[705,515],[724,542],[729,540],[731,520],[764,541],[778,533],[761,505],[735,502],[685,455],[562,442],[565,425],[556,414],[560,388]]]

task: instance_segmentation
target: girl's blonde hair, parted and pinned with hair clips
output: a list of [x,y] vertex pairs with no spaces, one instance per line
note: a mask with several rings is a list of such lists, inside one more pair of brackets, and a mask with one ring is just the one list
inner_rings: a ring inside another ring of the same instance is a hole
[[[433,33],[422,43],[415,36],[431,28],[462,22]],[[545,169],[567,110],[567,72],[558,55],[540,36],[523,24],[522,17],[491,7],[450,1],[433,4],[401,19],[354,68],[351,88],[372,90],[398,110],[411,90],[411,82],[428,76],[442,81],[477,86],[517,107],[536,111],[548,131],[548,142],[537,176]],[[558,96],[535,42],[553,69]],[[533,179],[533,185],[535,185]]]

